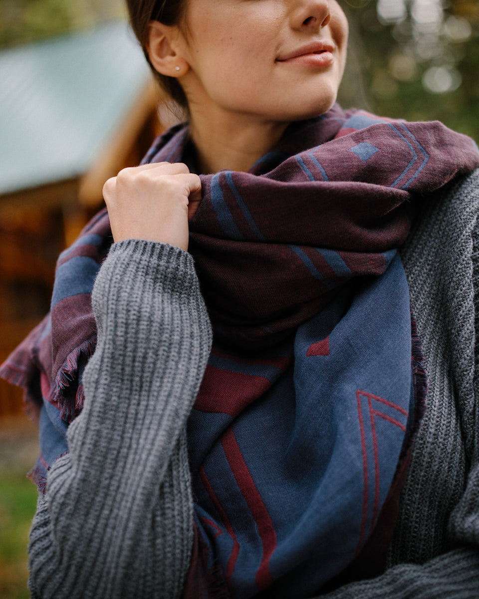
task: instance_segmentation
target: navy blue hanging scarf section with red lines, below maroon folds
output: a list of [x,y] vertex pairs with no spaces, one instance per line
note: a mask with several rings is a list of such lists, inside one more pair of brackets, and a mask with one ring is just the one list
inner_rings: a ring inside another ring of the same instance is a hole
[[307,597],[377,524],[414,422],[408,288],[384,259],[292,345],[211,353],[188,428],[195,514],[235,597]]

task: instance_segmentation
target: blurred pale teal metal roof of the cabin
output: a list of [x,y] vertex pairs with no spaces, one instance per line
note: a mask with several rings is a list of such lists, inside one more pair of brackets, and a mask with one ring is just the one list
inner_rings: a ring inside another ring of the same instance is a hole
[[0,194],[85,173],[148,73],[124,22],[0,52]]

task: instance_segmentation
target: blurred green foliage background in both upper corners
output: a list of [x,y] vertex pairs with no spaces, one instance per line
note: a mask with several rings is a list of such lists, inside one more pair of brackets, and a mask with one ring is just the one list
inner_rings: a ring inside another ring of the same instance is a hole
[[[339,0],[351,28],[344,106],[438,119],[479,140],[479,0]],[[122,0],[0,0],[0,47],[125,16]]]

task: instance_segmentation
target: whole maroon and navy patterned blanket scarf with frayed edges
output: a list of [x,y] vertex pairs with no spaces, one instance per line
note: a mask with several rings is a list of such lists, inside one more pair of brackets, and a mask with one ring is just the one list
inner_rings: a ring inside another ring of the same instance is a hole
[[[188,162],[189,149],[176,126],[144,162]],[[202,561],[224,581],[213,594],[307,597],[373,540],[384,555],[426,394],[398,248],[411,208],[478,162],[441,123],[335,105],[247,173],[201,176],[189,252],[214,344],[188,423],[190,581]],[[111,243],[102,211],[60,255],[50,314],[1,368],[41,412],[40,489],[83,406],[90,294]]]

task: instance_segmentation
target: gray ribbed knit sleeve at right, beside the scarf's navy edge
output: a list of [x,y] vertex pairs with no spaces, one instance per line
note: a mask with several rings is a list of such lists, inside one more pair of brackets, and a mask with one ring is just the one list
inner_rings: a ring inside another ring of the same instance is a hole
[[389,569],[328,599],[479,597],[479,170],[425,202],[402,252],[428,371]]

